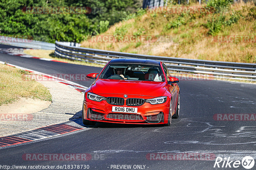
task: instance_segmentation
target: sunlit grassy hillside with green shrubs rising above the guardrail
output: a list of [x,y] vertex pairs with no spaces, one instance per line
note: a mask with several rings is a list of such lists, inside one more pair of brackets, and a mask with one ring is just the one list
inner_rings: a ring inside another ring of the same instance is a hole
[[[255,63],[255,4],[223,4],[217,8],[214,5],[207,4],[205,9],[208,12],[139,11],[135,17],[111,26],[99,35],[100,39],[96,37],[96,42],[95,37],[91,37],[82,46],[159,56]],[[117,37],[116,41],[105,42],[101,39],[104,35]],[[155,40],[124,42],[120,39],[131,36],[151,36]],[[168,38],[157,42],[163,36]]]

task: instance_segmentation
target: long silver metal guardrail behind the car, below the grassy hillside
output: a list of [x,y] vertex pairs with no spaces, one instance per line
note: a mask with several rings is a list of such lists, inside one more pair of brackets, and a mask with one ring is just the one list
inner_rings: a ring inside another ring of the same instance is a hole
[[163,61],[170,71],[188,72],[195,74],[210,74],[216,77],[228,77],[242,80],[256,81],[256,64],[223,62],[211,60],[194,60],[175,57],[153,56],[116,51],[98,50],[66,45],[55,42],[55,55],[71,60],[84,60],[86,62],[105,65],[114,58],[140,58]]

